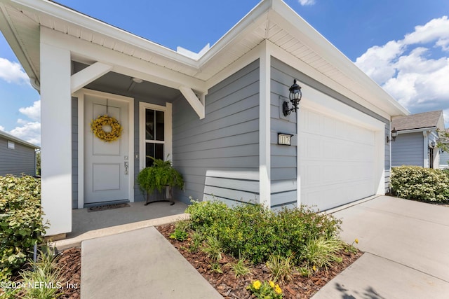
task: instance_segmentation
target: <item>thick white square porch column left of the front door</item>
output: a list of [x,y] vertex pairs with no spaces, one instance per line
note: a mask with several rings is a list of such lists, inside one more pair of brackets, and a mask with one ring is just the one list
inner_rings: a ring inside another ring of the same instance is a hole
[[47,235],[72,231],[70,52],[41,30],[41,202]]

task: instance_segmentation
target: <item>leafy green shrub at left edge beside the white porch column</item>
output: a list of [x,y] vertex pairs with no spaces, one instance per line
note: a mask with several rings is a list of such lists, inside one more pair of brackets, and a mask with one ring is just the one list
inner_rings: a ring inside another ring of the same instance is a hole
[[0,176],[0,281],[11,277],[43,242],[41,181]]

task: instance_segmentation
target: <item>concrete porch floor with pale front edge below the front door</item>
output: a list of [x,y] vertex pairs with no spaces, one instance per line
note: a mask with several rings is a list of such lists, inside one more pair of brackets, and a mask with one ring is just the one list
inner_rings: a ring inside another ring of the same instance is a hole
[[72,232],[65,239],[53,242],[58,250],[81,246],[81,241],[115,235],[149,226],[163,225],[187,218],[184,213],[187,204],[175,200],[154,202],[145,206],[145,202],[130,202],[130,207],[105,211],[72,210]]

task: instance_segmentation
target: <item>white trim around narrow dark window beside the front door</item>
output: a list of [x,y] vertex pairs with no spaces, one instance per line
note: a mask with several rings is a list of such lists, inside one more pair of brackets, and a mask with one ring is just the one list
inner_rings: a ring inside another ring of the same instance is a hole
[[163,111],[165,113],[165,132],[164,142],[158,142],[154,140],[154,143],[163,143],[165,159],[169,155],[168,160],[173,159],[173,137],[172,137],[172,104],[166,103],[166,106],[150,104],[146,102],[139,102],[139,167],[145,168],[145,110],[152,109],[157,111]]

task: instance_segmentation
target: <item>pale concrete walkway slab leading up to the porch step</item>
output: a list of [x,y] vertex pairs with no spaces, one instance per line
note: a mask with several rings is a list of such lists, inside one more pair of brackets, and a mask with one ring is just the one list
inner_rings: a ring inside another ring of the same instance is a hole
[[81,243],[81,298],[222,298],[156,228]]

